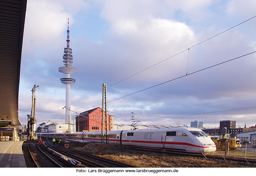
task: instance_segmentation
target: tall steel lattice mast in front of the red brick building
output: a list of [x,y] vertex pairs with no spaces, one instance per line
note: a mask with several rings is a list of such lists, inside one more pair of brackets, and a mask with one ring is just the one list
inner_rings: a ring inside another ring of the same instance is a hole
[[[101,113],[101,143],[108,144],[108,118],[107,118],[107,88],[106,83],[103,83],[102,91],[102,113]],[[104,133],[106,131],[106,133]]]

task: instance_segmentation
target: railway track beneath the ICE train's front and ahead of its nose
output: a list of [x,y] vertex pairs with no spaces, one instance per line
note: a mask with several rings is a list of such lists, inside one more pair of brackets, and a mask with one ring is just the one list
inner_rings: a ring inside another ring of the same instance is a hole
[[129,145],[121,145],[126,148],[131,149],[138,149],[144,151],[153,151],[153,152],[164,152],[164,153],[173,153],[173,154],[182,154],[182,155],[190,155],[190,156],[197,156],[197,157],[205,157],[211,159],[221,159],[221,160],[231,160],[231,161],[239,161],[239,162],[247,162],[247,163],[256,163],[256,159],[245,158],[245,157],[232,157],[232,156],[225,156],[225,155],[216,155],[216,154],[204,154],[198,152],[186,152],[186,151],[179,151],[179,150],[172,150],[172,149],[162,149],[162,148],[151,148],[151,147],[140,147],[140,146],[129,146]]

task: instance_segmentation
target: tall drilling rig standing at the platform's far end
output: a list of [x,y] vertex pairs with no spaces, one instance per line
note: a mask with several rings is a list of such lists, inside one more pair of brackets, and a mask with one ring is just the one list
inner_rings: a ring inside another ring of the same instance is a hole
[[36,135],[36,118],[35,118],[35,114],[36,114],[36,98],[35,98],[35,92],[36,92],[36,88],[39,87],[36,86],[36,84],[34,85],[34,87],[32,88],[32,110],[31,110],[31,114],[27,115],[28,116],[28,127],[27,127],[27,133],[28,133],[28,140],[34,140],[37,139],[37,135]]

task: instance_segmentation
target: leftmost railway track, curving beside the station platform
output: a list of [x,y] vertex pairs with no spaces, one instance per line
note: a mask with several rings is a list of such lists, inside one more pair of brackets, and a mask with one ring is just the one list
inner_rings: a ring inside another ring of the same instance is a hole
[[28,144],[34,167],[79,167],[38,144]]

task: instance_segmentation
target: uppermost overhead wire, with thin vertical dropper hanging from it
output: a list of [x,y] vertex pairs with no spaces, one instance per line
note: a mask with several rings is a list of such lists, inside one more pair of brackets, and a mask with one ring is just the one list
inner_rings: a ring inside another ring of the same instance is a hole
[[[237,26],[239,26],[239,25],[241,25],[241,24],[243,24],[243,23],[245,23],[245,22],[248,22],[248,21],[250,21],[251,19],[253,19],[253,18],[255,18],[255,17],[256,17],[256,16],[253,16],[253,17],[251,17],[251,18],[249,18],[249,19],[247,19],[247,20],[245,20],[245,21],[243,21],[243,22],[241,22],[241,23],[239,23],[239,24],[236,24],[235,26],[233,26],[233,27],[231,27],[231,28],[228,28],[227,30],[222,31],[222,32],[220,32],[220,33],[218,33],[218,34],[216,34],[216,35],[214,35],[214,36],[212,36],[212,37],[210,37],[210,38],[208,38],[208,39],[206,39],[206,40],[203,40],[203,41],[197,43],[196,45],[193,45],[193,46],[191,46],[191,47],[189,47],[189,48],[187,48],[187,49],[185,49],[185,50],[183,50],[183,51],[181,51],[181,52],[179,52],[179,53],[177,53],[177,54],[175,54],[175,55],[173,55],[173,56],[171,56],[171,57],[168,57],[168,58],[166,58],[166,59],[164,59],[164,60],[162,60],[162,61],[160,61],[160,62],[158,62],[158,63],[156,63],[156,64],[154,64],[154,65],[152,65],[152,66],[150,66],[150,67],[147,67],[147,68],[145,68],[145,69],[143,69],[143,70],[141,70],[141,71],[139,71],[139,72],[137,72],[137,73],[135,73],[135,74],[133,74],[133,75],[131,75],[131,76],[128,76],[128,77],[122,79],[121,81],[118,81],[118,82],[116,82],[116,83],[114,83],[114,84],[108,86],[107,88],[112,87],[112,86],[114,86],[114,85],[116,85],[116,84],[118,84],[118,83],[121,83],[121,82],[123,82],[124,80],[126,80],[126,79],[128,79],[128,78],[131,78],[131,77],[133,77],[133,76],[135,76],[135,75],[138,75],[139,73],[141,73],[141,72],[143,72],[143,71],[145,71],[145,70],[147,70],[147,69],[149,69],[149,68],[152,68],[153,66],[156,66],[156,65],[158,65],[158,64],[160,64],[160,63],[162,63],[162,62],[164,62],[164,61],[166,61],[166,60],[168,60],[168,59],[170,59],[170,58],[172,58],[172,57],[175,57],[175,56],[177,56],[177,55],[179,55],[179,54],[181,54],[181,53],[183,53],[183,52],[185,52],[185,51],[187,51],[187,50],[188,50],[188,52],[189,52],[189,49],[190,49],[190,48],[194,48],[194,47],[196,47],[197,45],[200,45],[200,44],[202,44],[202,43],[204,43],[204,42],[206,42],[206,41],[208,41],[208,40],[210,40],[210,39],[212,39],[212,38],[214,38],[214,37],[216,37],[216,36],[218,36],[218,35],[220,35],[220,34],[226,32],[226,31],[229,31],[229,30],[231,30],[231,29],[233,29],[233,28],[235,28],[235,27],[237,27]],[[188,54],[189,54],[189,53],[188,53]],[[188,60],[187,60],[187,64],[188,64]],[[187,68],[188,68],[188,65],[187,65]],[[98,92],[96,92],[96,93],[99,93],[99,92],[101,92],[101,90],[98,91]],[[92,95],[95,95],[96,93],[94,93],[94,94],[92,94]],[[87,97],[85,97],[85,98],[83,98],[83,99],[81,99],[81,100],[78,100],[78,101],[72,103],[72,104],[75,104],[75,103],[77,103],[77,102],[79,102],[79,101],[82,101],[82,100],[84,100],[84,99],[86,99],[86,98],[88,98],[88,97],[90,97],[90,96],[92,96],[92,95],[89,95],[89,96],[87,96]],[[71,105],[72,105],[72,104],[71,104]],[[98,106],[98,105],[96,105],[96,106]],[[93,107],[95,107],[95,106],[93,106]]]

